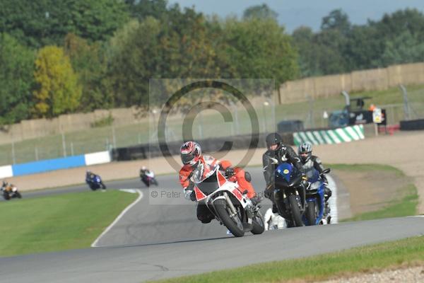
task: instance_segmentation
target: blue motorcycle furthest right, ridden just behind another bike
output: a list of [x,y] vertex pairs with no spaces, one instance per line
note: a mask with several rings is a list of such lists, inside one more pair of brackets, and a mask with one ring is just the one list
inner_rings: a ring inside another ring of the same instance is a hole
[[[314,168],[307,172],[308,185],[306,189],[306,210],[303,216],[303,221],[307,226],[324,224],[323,216],[325,207],[324,200],[324,182],[321,179],[323,174],[330,172],[330,169],[325,169],[321,174]],[[328,216],[329,218],[330,216]],[[326,221],[329,223],[328,219]]]

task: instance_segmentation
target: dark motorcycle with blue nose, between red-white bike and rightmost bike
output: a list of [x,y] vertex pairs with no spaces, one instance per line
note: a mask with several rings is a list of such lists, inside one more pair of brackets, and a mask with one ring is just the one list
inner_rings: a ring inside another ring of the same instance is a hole
[[[272,163],[278,164],[275,158]],[[302,185],[302,173],[290,163],[281,163],[274,173],[274,200],[288,227],[304,226],[302,214],[305,212],[305,187]]]

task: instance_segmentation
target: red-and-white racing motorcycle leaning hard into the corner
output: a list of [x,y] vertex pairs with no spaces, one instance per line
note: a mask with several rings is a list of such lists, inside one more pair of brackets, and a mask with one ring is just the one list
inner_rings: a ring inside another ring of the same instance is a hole
[[236,237],[245,232],[261,234],[264,232],[264,217],[259,207],[254,207],[245,192],[240,192],[237,183],[230,182],[219,170],[218,165],[211,166],[204,173],[200,164],[192,173],[196,201],[206,207]]

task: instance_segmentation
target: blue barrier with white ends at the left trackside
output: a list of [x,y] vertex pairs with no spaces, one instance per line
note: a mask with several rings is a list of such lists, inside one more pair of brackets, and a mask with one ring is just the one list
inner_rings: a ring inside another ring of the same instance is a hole
[[89,166],[101,163],[108,163],[110,161],[110,152],[100,151],[95,152],[93,154],[69,156],[64,158],[54,158],[15,165],[0,166],[0,178],[9,178],[13,176],[29,175],[59,169]]

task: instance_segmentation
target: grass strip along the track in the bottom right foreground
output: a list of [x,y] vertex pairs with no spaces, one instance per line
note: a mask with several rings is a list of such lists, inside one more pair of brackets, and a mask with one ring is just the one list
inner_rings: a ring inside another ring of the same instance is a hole
[[424,263],[424,236],[364,246],[310,258],[178,277],[158,282],[285,282],[318,281],[329,277],[369,272],[400,265]]

